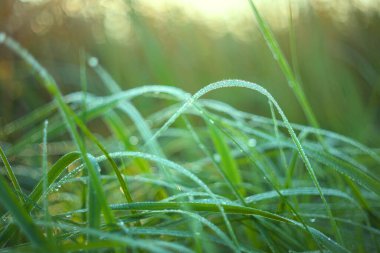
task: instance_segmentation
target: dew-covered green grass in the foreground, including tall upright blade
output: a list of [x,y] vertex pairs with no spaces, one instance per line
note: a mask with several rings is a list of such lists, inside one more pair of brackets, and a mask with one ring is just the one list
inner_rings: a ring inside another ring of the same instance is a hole
[[[28,66],[41,95],[23,83],[38,105],[4,117],[12,120],[0,131],[0,252],[380,251],[378,136],[360,142],[321,128],[329,117],[320,120],[294,62],[253,1],[248,7],[304,124],[290,122],[288,104],[263,85],[126,89],[84,50],[77,89],[62,92],[0,33],[2,52]],[[156,71],[164,78],[168,69]],[[235,94],[264,101],[267,117],[224,102]],[[376,118],[376,104],[370,116],[340,113],[359,126]]]

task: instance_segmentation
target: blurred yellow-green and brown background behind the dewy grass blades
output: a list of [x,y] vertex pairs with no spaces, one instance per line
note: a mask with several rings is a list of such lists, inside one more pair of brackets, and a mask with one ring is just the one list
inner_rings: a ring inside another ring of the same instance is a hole
[[[255,3],[321,127],[379,146],[380,2]],[[1,0],[0,30],[29,50],[65,94],[82,89],[85,52],[123,89],[163,84],[194,93],[211,82],[244,79],[264,86],[290,121],[307,123],[244,0]],[[87,79],[89,92],[107,94],[91,69]],[[270,116],[266,99],[253,92],[208,97]],[[35,73],[3,46],[0,99],[1,126],[51,100]]]

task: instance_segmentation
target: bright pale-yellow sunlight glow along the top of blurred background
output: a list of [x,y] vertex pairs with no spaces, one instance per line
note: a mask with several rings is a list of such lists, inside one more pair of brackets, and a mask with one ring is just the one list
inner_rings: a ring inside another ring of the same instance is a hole
[[[40,4],[47,0],[22,0],[25,3]],[[155,17],[158,20],[172,17],[173,20],[180,17],[189,22],[201,23],[211,28],[216,35],[223,36],[227,33],[233,34],[240,39],[252,36],[252,23],[256,22],[248,1],[241,0],[64,0],[57,1],[64,13],[68,16],[96,17],[104,16],[104,26],[107,36],[120,42],[128,42],[131,37],[130,13],[137,9],[144,16]],[[292,9],[293,19],[297,19],[302,8],[313,5],[316,9],[333,10],[336,18],[342,24],[345,23],[350,10],[353,8],[362,11],[378,12],[380,5],[376,0],[355,1],[307,1],[307,0],[277,0],[277,1],[255,1],[257,8],[265,16],[272,29],[286,29],[289,25],[289,13]],[[51,18],[49,14],[42,13],[33,24],[36,33],[43,33],[49,28]]]

